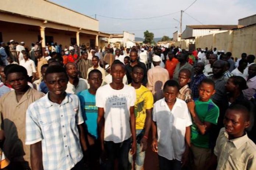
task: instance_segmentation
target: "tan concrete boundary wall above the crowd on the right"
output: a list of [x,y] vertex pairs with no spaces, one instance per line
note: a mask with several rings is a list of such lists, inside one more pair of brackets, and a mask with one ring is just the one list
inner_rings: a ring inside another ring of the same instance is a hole
[[196,48],[205,47],[216,47],[217,50],[225,50],[225,52],[230,51],[232,56],[238,58],[243,52],[256,55],[256,25],[197,37]]

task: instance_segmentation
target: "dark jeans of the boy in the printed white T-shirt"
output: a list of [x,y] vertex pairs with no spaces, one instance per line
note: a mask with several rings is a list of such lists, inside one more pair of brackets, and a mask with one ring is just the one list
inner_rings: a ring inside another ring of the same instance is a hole
[[128,170],[128,153],[131,145],[131,138],[121,142],[114,143],[112,141],[105,141],[105,149],[107,152],[107,162],[106,169],[113,170],[114,169],[114,161],[115,158],[118,160],[118,169],[119,170]]

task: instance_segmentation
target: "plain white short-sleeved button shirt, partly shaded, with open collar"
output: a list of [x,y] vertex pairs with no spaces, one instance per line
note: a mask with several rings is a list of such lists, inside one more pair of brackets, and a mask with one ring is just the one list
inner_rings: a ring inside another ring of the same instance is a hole
[[157,125],[158,155],[169,160],[181,160],[185,151],[186,127],[192,125],[185,101],[177,98],[172,110],[164,98],[156,101],[153,121]]

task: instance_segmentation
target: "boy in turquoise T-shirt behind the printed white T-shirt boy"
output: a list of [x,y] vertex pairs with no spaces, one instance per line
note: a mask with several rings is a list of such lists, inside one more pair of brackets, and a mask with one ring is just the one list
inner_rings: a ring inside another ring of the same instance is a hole
[[95,106],[95,95],[97,89],[102,84],[102,73],[94,69],[88,74],[89,89],[78,93],[81,103],[81,110],[83,120],[85,121],[85,137],[88,141],[88,154],[90,167],[92,169],[99,169],[99,141],[97,134],[97,117],[98,108]]

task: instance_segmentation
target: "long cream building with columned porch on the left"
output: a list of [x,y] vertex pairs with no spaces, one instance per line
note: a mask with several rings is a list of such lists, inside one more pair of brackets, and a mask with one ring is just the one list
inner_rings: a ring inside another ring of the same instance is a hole
[[43,37],[46,43],[57,42],[63,48],[70,44],[100,46],[99,21],[47,0],[0,1],[0,41],[24,41],[26,46]]

